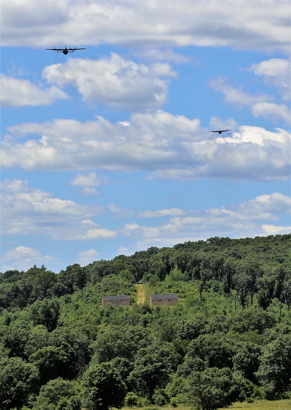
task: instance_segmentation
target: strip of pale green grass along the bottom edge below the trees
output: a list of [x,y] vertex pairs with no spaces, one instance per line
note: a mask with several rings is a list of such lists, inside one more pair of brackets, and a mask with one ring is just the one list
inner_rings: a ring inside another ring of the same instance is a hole
[[[154,406],[154,408],[158,408],[160,410],[190,410],[190,407],[186,406],[179,406],[179,407],[159,407]],[[241,410],[290,410],[291,409],[291,401],[290,400],[276,400],[276,401],[268,401],[268,400],[260,400],[256,401],[255,403],[234,403],[232,406],[229,406],[228,409],[241,409]],[[121,410],[132,410],[129,407],[123,407]],[[140,408],[139,410],[143,410]],[[223,410],[223,409],[219,409]]]

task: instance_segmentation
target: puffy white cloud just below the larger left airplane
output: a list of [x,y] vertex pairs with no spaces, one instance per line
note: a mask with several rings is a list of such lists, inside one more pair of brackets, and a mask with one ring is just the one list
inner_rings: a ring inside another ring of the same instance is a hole
[[168,80],[160,77],[173,78],[175,73],[167,63],[149,67],[112,53],[98,60],[71,58],[64,64],[47,66],[43,77],[59,87],[76,87],[83,100],[96,100],[118,109],[145,109],[166,102]]

